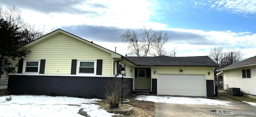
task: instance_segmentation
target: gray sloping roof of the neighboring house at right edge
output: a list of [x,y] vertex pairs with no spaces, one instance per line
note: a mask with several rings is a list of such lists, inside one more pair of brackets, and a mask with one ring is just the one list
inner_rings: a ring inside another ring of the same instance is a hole
[[252,66],[256,65],[256,56],[244,59],[242,61],[239,61],[237,63],[234,63],[232,65],[228,65],[226,67],[223,67],[217,71],[223,71],[223,70],[228,70],[228,69],[233,69],[233,68],[239,68],[239,67],[246,67],[246,66]]

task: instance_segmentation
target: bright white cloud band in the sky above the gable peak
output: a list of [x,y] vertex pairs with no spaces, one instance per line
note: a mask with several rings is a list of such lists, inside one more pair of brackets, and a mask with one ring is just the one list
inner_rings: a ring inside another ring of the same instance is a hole
[[[90,4],[104,4],[107,8],[92,8]],[[22,17],[32,24],[42,24],[45,26],[71,25],[96,25],[96,26],[116,26],[118,28],[141,28],[142,26],[152,26],[156,29],[165,27],[165,24],[148,22],[154,13],[150,7],[154,6],[147,0],[93,0],[76,5],[76,8],[88,12],[97,12],[96,16],[88,14],[72,14],[68,12],[37,12],[22,8]],[[52,28],[52,27],[50,27]],[[50,29],[49,28],[49,29]]]

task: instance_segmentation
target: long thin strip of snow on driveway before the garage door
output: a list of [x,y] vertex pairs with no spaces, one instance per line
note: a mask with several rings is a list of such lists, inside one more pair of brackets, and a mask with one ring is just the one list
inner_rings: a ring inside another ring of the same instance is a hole
[[195,98],[195,97],[171,97],[171,96],[151,96],[140,95],[135,98],[140,101],[153,101],[158,103],[176,103],[176,104],[193,104],[193,105],[225,105],[231,106],[226,101],[216,99]]

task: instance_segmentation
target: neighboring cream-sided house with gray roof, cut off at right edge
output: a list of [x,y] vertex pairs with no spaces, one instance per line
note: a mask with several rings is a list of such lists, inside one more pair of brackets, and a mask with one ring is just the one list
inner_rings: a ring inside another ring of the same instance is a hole
[[219,70],[224,90],[240,88],[244,95],[256,97],[256,56],[228,65]]

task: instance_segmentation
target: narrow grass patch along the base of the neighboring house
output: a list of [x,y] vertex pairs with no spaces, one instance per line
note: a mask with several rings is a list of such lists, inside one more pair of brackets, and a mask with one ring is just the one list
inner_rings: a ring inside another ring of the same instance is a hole
[[218,95],[222,96],[222,97],[226,97],[229,99],[233,99],[236,101],[248,101],[248,102],[255,102],[256,103],[256,99],[250,98],[250,97],[244,97],[244,96],[231,96],[228,94],[223,94],[223,93],[218,93]]

